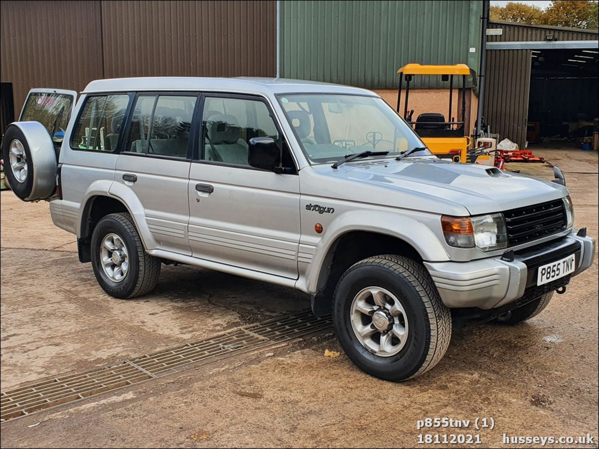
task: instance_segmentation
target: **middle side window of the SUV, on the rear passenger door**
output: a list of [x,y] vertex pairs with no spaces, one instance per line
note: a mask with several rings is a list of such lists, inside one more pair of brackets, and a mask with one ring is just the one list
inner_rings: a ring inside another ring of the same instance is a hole
[[138,96],[125,151],[187,157],[195,103],[195,96]]

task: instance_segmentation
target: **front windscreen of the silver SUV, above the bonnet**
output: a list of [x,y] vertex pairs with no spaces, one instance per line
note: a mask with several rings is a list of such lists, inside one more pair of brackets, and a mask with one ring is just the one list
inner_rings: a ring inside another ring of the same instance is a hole
[[[357,95],[279,96],[295,135],[313,163],[337,161],[362,151],[398,155],[426,145],[382,99]],[[424,148],[412,155],[430,155]]]

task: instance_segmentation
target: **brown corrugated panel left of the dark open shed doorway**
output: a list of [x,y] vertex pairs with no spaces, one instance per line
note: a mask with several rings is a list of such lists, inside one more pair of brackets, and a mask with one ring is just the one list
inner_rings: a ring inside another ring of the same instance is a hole
[[486,52],[486,94],[483,117],[491,132],[524,148],[530,88],[530,50]]

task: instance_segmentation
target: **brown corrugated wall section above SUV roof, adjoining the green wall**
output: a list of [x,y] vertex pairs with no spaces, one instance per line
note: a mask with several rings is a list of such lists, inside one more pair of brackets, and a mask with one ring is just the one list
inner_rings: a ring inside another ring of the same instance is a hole
[[104,77],[274,77],[275,1],[103,1]]

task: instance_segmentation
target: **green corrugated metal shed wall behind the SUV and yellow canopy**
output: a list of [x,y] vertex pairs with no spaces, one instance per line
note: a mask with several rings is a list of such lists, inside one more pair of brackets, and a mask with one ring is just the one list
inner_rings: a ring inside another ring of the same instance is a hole
[[[404,64],[478,70],[482,1],[280,2],[280,76],[397,88]],[[470,48],[476,49],[474,53]],[[447,87],[417,77],[415,87]]]

